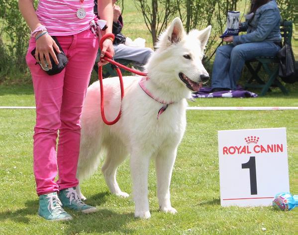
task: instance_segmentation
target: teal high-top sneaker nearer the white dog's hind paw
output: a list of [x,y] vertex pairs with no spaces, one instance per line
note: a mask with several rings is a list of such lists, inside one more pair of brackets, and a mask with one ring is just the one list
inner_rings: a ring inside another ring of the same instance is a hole
[[59,198],[64,208],[67,207],[85,214],[98,211],[96,207],[88,206],[81,201],[76,192],[76,188],[66,188],[61,190],[59,193]]

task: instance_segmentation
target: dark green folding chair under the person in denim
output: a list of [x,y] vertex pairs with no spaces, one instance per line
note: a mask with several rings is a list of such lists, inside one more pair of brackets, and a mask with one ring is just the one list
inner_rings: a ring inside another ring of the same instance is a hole
[[[291,45],[293,33],[293,23],[292,21],[281,21],[281,35],[282,40],[287,41]],[[256,68],[253,68],[251,63],[257,62]],[[276,64],[272,69],[270,64]],[[248,78],[245,84],[245,88],[256,87],[262,88],[260,96],[265,95],[267,91],[270,91],[270,86],[279,87],[284,94],[288,94],[289,91],[286,87],[280,82],[278,78],[279,72],[279,59],[277,57],[256,57],[253,60],[246,61],[245,65],[251,74],[251,78]],[[258,72],[261,68],[264,68],[264,71],[268,74],[269,79],[267,81],[261,79],[258,76]],[[254,82],[255,81],[255,82]]]

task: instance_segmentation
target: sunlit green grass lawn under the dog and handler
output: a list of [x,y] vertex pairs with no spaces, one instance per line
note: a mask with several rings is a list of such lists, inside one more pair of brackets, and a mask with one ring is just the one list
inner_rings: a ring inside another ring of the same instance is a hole
[[[281,92],[258,98],[197,99],[192,106],[297,106],[297,94]],[[0,85],[0,106],[34,106],[31,85]],[[37,216],[38,197],[32,170],[35,110],[0,109],[0,234],[275,234],[294,235],[297,209],[220,206],[217,131],[286,127],[290,188],[297,185],[297,110],[187,111],[188,125],[178,150],[172,183],[172,205],[177,215],[158,211],[154,163],[149,172],[151,219],[134,219],[134,203],[109,193],[100,171],[83,182],[88,203],[99,208],[92,215],[70,212],[68,223],[46,222]],[[118,170],[120,187],[131,193],[129,160]],[[266,231],[262,231],[266,228]]]

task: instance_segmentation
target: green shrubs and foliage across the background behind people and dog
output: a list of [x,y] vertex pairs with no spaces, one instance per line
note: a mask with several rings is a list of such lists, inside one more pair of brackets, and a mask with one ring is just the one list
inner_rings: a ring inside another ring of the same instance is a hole
[[[284,19],[294,21],[295,1],[277,0]],[[138,11],[135,10],[133,2]],[[225,28],[227,10],[237,9],[245,13],[250,0],[118,0],[118,3],[122,7],[123,3],[127,3],[126,8],[134,12],[130,14],[134,14],[135,21],[141,21],[138,25],[134,24],[131,30],[139,35],[142,31],[140,28],[147,26],[153,43],[174,16],[182,18],[187,31],[193,28],[202,29],[211,24],[212,31],[205,58],[209,61],[215,48],[221,43],[218,35],[221,35]],[[125,14],[126,9],[126,18]],[[143,22],[146,26],[143,26]],[[127,25],[125,27],[127,28]],[[0,82],[7,78],[12,78],[12,81],[29,78],[25,62],[29,34],[30,30],[18,10],[17,0],[0,1]]]

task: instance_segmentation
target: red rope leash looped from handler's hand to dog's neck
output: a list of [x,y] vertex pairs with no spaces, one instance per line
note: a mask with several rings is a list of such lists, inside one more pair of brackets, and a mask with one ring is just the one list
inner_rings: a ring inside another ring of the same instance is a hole
[[[115,38],[114,34],[112,33],[107,33],[105,35],[102,36],[102,38],[100,39],[99,41],[99,47],[100,47],[100,50],[102,50],[102,43],[103,41],[108,38],[108,37],[112,37],[113,39]],[[124,69],[124,70],[127,70],[131,73],[134,73],[134,74],[137,74],[137,75],[140,75],[140,76],[147,76],[147,74],[145,73],[141,73],[139,71],[136,71],[136,70],[133,70],[133,69],[130,69],[124,65],[121,65],[117,62],[115,62],[111,56],[111,54],[109,52],[105,52],[103,58],[103,60],[113,64],[116,66],[116,72],[118,74],[118,77],[119,77],[119,81],[120,81],[120,90],[121,90],[121,105],[120,105],[120,110],[119,110],[119,113],[117,115],[117,117],[113,120],[113,121],[107,121],[106,118],[105,118],[105,115],[104,115],[104,103],[103,103],[103,84],[102,84],[102,66],[99,66],[99,84],[100,84],[100,111],[101,111],[101,117],[102,117],[102,121],[106,124],[106,125],[113,125],[115,124],[117,121],[119,121],[120,119],[120,116],[121,116],[121,107],[122,107],[122,99],[124,97],[124,87],[123,87],[123,80],[122,80],[122,74],[121,74],[121,71],[118,67]]]

